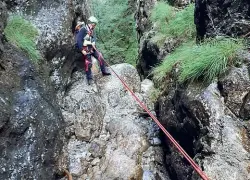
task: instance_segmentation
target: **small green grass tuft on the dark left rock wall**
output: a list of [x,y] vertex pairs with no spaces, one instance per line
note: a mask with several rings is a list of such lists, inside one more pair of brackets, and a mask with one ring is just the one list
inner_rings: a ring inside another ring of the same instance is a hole
[[4,33],[11,43],[26,52],[33,61],[41,59],[36,49],[37,29],[20,16],[14,16],[8,22]]

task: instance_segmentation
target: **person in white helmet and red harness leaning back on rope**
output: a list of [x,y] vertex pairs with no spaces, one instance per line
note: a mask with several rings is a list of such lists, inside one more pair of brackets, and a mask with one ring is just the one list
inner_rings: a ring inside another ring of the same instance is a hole
[[90,85],[93,80],[91,72],[91,56],[94,56],[99,61],[100,69],[102,71],[103,76],[108,76],[111,74],[106,70],[103,56],[100,52],[97,51],[95,46],[96,36],[94,33],[94,29],[98,23],[98,20],[94,16],[91,16],[88,21],[89,23],[86,25],[83,25],[83,23],[81,22],[77,24],[75,29],[75,36],[77,49],[81,51],[83,55],[87,81]]

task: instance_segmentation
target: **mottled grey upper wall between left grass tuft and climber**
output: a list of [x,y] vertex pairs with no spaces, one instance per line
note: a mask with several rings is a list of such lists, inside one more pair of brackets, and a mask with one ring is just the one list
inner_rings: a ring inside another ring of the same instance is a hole
[[12,0],[6,3],[10,13],[23,15],[38,29],[37,47],[46,60],[40,65],[47,68],[56,91],[63,94],[72,71],[83,66],[81,56],[74,49],[72,28],[77,19],[89,16],[90,4],[87,0]]

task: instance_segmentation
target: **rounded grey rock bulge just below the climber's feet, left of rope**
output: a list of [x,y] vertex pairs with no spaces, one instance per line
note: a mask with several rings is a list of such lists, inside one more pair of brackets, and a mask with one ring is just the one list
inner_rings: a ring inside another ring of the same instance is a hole
[[74,124],[73,134],[77,139],[90,141],[100,135],[105,106],[100,103],[94,87],[89,87],[84,81],[82,78],[72,84],[64,98],[63,109],[66,121]]

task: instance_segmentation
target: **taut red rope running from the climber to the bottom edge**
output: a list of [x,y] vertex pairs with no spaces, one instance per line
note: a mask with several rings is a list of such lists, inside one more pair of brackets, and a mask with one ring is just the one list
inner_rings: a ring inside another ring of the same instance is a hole
[[187,161],[193,166],[193,168],[199,173],[203,180],[209,180],[208,176],[201,170],[201,168],[194,162],[194,160],[186,153],[186,151],[176,142],[176,140],[171,136],[171,134],[161,125],[158,119],[148,110],[146,105],[140,101],[140,99],[134,94],[134,92],[128,87],[128,85],[120,78],[120,76],[112,69],[112,67],[104,61],[116,77],[122,82],[124,87],[132,94],[135,100],[139,103],[139,105],[150,115],[150,117],[155,121],[155,123],[161,128],[161,130],[165,133],[165,135],[169,138],[169,140],[175,145],[175,147],[179,150],[179,152],[187,159]]

